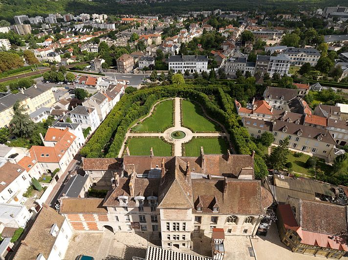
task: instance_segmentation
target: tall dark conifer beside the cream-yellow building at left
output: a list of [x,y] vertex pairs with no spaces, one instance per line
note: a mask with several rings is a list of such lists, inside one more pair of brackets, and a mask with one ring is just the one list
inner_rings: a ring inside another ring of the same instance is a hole
[[12,109],[13,117],[10,121],[11,132],[17,137],[29,137],[34,130],[35,124],[30,116],[25,113],[26,108],[17,100],[13,104]]

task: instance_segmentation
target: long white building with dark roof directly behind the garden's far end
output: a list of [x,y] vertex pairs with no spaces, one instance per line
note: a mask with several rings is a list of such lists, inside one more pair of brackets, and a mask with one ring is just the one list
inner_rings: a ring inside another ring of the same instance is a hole
[[195,55],[169,56],[169,69],[172,69],[175,73],[181,71],[182,74],[186,70],[189,70],[190,73],[195,71],[201,73],[202,71],[208,71],[208,58]]

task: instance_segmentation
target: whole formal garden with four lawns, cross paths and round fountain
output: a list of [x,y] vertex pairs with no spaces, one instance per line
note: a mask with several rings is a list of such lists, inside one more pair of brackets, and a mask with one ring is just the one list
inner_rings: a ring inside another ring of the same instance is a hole
[[176,97],[158,101],[131,127],[119,157],[127,147],[137,156],[150,155],[151,148],[155,156],[199,156],[201,146],[206,154],[221,154],[231,147],[228,140],[224,127],[203,107]]

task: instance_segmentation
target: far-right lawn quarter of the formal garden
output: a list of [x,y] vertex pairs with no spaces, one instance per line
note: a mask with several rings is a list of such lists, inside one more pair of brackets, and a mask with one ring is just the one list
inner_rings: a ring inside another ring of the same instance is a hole
[[190,101],[182,101],[182,122],[183,127],[190,128],[197,132],[218,132],[220,127],[218,124],[204,117],[202,108],[198,104]]

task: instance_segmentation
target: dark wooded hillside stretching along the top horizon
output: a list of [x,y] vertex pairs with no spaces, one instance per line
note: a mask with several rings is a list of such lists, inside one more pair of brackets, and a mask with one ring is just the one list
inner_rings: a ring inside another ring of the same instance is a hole
[[120,4],[116,0],[2,0],[0,20],[13,22],[15,15],[48,15],[49,13],[105,13],[105,14],[162,14],[174,15],[187,11],[221,10],[279,10],[280,13],[291,10],[314,9],[337,4],[348,4],[348,0],[170,0],[169,2]]

